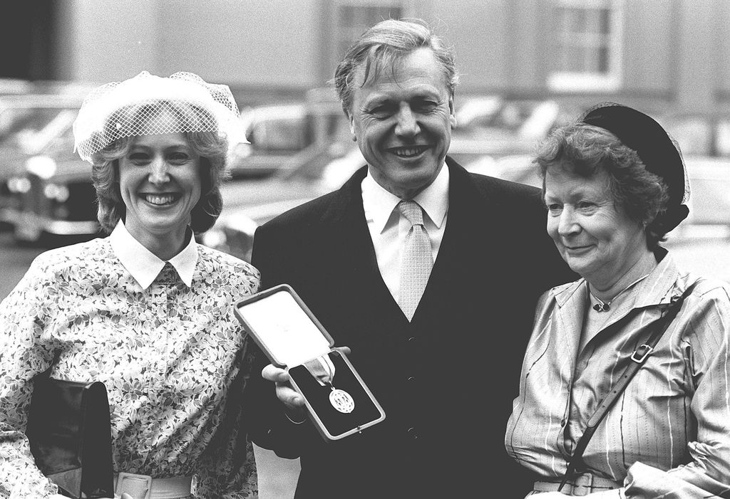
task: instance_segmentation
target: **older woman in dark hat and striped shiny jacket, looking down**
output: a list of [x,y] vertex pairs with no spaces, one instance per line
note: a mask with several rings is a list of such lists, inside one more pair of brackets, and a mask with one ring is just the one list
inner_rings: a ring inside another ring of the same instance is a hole
[[661,246],[688,214],[679,149],[608,103],[535,162],[548,233],[581,279],[540,299],[507,425],[531,494],[730,497],[730,287]]

